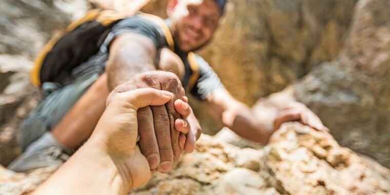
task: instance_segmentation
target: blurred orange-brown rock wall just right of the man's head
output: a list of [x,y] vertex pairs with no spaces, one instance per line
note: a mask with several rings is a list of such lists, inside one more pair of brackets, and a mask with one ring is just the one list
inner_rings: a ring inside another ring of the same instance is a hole
[[200,54],[233,96],[248,104],[335,59],[356,3],[229,2],[225,22]]

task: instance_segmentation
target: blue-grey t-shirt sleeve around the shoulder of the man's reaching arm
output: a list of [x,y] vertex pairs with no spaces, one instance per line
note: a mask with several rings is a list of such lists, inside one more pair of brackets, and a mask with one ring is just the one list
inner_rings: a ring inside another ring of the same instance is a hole
[[101,49],[108,51],[109,45],[114,38],[128,32],[147,36],[157,49],[167,46],[164,32],[159,25],[150,19],[135,15],[122,19],[118,24],[115,24],[103,42]]

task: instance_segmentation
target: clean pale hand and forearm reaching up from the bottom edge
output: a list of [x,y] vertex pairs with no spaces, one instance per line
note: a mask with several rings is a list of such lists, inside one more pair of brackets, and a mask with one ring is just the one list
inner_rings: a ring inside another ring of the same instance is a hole
[[152,88],[113,94],[88,141],[34,194],[127,194],[146,184],[152,172],[136,144],[137,110],[172,96]]

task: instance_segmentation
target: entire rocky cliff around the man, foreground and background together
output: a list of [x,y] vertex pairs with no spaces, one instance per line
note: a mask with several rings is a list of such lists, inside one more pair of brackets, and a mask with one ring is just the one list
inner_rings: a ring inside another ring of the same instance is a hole
[[[90,2],[0,3],[1,164],[21,152],[15,139],[18,124],[41,98],[28,81],[34,56],[55,31],[102,6]],[[144,11],[164,15],[166,1],[132,2],[119,7],[146,5]],[[390,193],[390,172],[383,167],[390,166],[388,10],[386,0],[231,0],[214,40],[199,53],[239,100],[252,104],[262,97],[253,112],[263,123],[271,125],[278,109],[296,100],[313,109],[336,140],[289,123],[263,148],[224,129],[203,135],[175,170],[132,193]],[[220,129],[212,116],[197,115],[205,132]],[[32,190],[55,168],[26,175],[2,167],[0,194]]]

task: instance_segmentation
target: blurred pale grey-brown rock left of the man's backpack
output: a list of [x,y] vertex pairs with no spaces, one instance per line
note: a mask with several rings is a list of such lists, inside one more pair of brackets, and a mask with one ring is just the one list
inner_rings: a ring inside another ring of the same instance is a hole
[[40,94],[29,83],[32,61],[55,30],[85,14],[86,1],[0,3],[0,163],[21,152],[15,135],[19,122],[36,107]]

